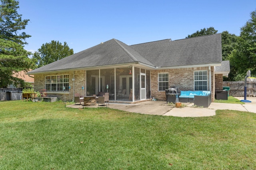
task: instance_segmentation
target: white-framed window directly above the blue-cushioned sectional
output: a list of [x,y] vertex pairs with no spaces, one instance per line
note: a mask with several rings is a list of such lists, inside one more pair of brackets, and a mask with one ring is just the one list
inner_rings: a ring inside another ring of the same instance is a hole
[[194,90],[207,90],[207,70],[194,72]]

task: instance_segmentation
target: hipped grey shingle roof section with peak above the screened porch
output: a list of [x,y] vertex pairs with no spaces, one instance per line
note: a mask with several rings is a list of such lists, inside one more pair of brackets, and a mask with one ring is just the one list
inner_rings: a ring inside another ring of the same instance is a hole
[[37,68],[29,72],[29,74],[32,74],[33,72],[68,70],[133,62],[142,62],[153,66],[152,63],[144,59],[128,45],[116,39],[111,39],[79,53]]

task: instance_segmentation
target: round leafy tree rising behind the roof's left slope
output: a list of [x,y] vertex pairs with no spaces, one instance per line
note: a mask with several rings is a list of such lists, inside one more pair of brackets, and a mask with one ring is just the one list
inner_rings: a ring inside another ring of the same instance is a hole
[[73,49],[70,49],[66,42],[62,45],[59,41],[52,40],[50,43],[45,43],[33,55],[36,59],[38,67],[50,64],[54,61],[63,59],[74,54]]

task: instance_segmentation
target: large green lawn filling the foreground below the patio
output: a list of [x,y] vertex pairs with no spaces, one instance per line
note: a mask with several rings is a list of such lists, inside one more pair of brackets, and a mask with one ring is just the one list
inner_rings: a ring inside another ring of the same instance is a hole
[[256,169],[256,114],[171,117],[0,102],[0,169]]

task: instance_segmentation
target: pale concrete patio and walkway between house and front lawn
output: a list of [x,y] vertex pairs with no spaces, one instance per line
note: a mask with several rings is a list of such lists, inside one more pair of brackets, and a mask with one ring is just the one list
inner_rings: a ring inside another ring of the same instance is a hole
[[[244,98],[238,98],[243,100]],[[192,103],[182,103],[187,107],[176,108],[174,105],[166,104],[164,101],[148,101],[138,104],[116,104],[110,103],[107,107],[112,109],[120,109],[123,111],[130,111],[134,113],[150,114],[150,115],[164,115],[164,116],[178,116],[178,117],[203,117],[214,116],[216,110],[238,110],[249,111],[256,113],[256,97],[247,97],[251,103],[245,104],[224,104],[224,103],[211,103],[208,108],[195,108]],[[68,105],[67,107],[82,108],[81,105]],[[106,107],[106,106],[89,106],[89,107]]]

